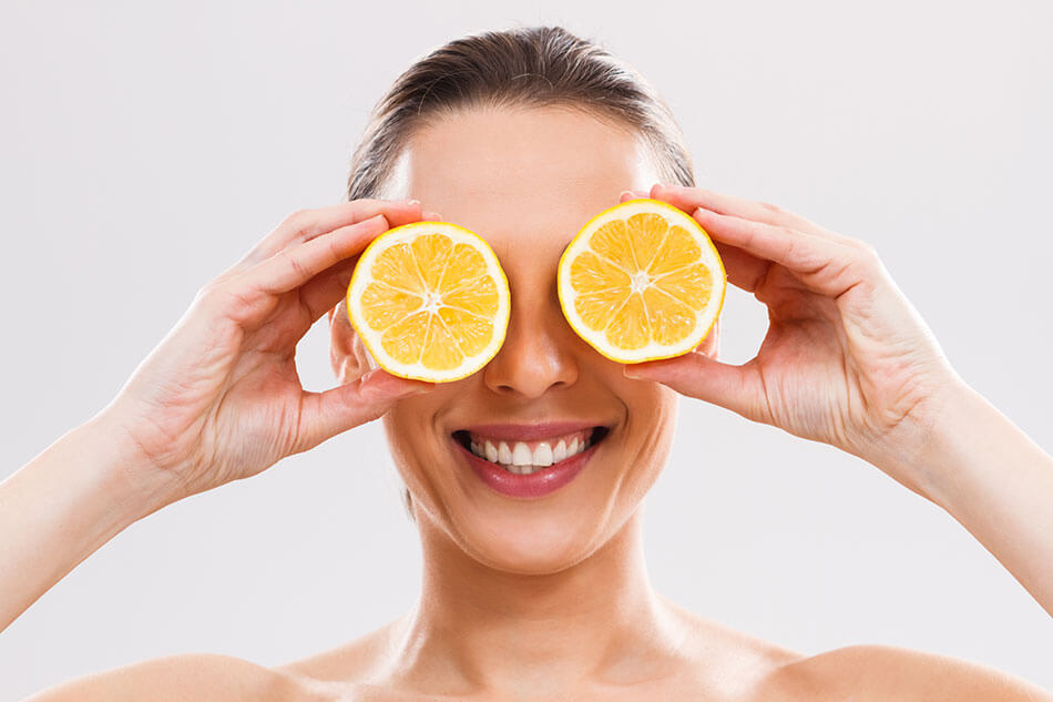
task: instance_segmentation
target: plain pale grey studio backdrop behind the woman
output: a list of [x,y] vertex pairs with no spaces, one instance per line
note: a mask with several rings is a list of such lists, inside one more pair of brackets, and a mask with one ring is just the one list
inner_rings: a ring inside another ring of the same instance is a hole
[[[0,18],[0,478],[109,401],[283,217],[341,201],[368,111],[413,60],[538,23],[655,84],[701,186],[871,242],[965,380],[1053,448],[1044,0],[90,4]],[[766,322],[730,288],[724,358],[750,358]],[[325,319],[298,364],[333,387]],[[0,634],[0,699],[183,652],[279,664],[380,627],[419,589],[397,487],[371,424],[133,525]],[[1053,686],[1053,622],[1023,588],[830,446],[685,398],[645,510],[654,586],[704,617],[805,653],[892,644]]]

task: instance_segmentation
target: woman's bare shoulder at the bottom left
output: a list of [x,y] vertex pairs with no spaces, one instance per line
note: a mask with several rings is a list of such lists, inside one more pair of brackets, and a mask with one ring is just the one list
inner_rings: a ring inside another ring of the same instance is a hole
[[317,699],[296,676],[215,653],[152,659],[65,682],[25,702],[238,702]]

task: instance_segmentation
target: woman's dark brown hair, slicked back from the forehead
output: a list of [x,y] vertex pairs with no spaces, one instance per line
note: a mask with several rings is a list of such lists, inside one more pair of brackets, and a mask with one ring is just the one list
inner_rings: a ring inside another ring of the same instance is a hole
[[[562,27],[487,31],[419,59],[374,108],[351,156],[347,199],[379,197],[412,132],[472,106],[561,105],[636,130],[663,182],[694,185],[691,154],[664,100],[627,63]],[[412,500],[402,499],[412,516]]]

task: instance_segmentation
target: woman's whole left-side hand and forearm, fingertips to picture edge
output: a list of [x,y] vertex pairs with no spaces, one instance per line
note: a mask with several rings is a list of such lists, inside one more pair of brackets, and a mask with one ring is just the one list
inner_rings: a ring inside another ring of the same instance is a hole
[[418,220],[420,203],[379,200],[290,214],[201,288],[109,405],[0,484],[0,631],[132,522],[428,389],[374,372],[313,393],[286,363],[345,295],[351,257]]

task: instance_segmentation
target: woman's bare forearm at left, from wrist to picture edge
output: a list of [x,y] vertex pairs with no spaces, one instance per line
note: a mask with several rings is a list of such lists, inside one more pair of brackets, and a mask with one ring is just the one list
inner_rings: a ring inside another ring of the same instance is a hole
[[171,499],[104,415],[0,484],[0,631],[82,560]]

